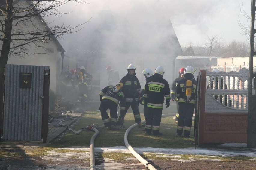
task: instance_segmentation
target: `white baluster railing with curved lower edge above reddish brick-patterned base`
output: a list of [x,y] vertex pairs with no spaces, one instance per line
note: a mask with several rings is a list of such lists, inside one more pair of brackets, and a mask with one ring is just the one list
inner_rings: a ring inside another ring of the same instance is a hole
[[[247,112],[249,70],[245,67],[230,72],[223,72],[220,67],[213,69],[220,72],[206,70],[206,112]],[[254,81],[252,88],[255,95]]]

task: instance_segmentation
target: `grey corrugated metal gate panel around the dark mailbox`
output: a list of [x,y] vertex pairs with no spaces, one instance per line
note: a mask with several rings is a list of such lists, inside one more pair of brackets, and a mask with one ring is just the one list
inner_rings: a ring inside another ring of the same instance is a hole
[[[3,140],[41,140],[45,69],[6,65]],[[31,88],[20,88],[20,73],[32,73]]]

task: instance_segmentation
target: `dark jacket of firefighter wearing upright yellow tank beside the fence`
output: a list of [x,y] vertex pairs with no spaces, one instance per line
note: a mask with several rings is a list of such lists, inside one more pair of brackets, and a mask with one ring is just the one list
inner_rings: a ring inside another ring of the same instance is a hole
[[[187,80],[192,81],[192,93],[190,99],[187,99],[186,96],[186,88],[189,88],[186,85]],[[188,73],[188,75],[184,75],[184,78],[180,79],[178,82],[178,85],[176,87],[176,92],[177,92],[177,98],[179,103],[191,103],[195,104],[196,103],[196,85],[197,81],[194,78],[193,74]]]

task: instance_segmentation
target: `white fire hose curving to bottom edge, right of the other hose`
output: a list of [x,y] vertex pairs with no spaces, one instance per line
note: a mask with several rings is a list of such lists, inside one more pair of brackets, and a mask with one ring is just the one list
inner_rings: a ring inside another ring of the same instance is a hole
[[[172,113],[168,113],[168,114],[163,114],[162,116],[173,116],[173,115],[176,115],[176,114],[172,114]],[[141,121],[142,123],[145,122],[145,120]],[[144,158],[142,158],[136,151],[134,151],[133,147],[128,143],[128,139],[127,139],[127,136],[128,136],[128,133],[130,132],[130,130],[132,130],[134,127],[136,127],[138,124],[135,123],[133,124],[132,126],[130,126],[125,134],[124,134],[124,144],[126,146],[126,148],[129,149],[129,151],[133,154],[133,156],[135,156],[143,165],[145,165],[145,167],[147,169],[150,169],[150,170],[157,170],[151,162],[148,162],[146,161]]]

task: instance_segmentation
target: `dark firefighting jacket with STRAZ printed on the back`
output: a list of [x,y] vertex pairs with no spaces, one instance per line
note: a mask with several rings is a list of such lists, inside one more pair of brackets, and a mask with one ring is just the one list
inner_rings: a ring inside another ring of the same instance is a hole
[[143,97],[148,107],[163,109],[164,97],[166,102],[170,102],[170,87],[168,82],[163,79],[160,74],[154,74],[148,78],[145,84],[145,91]]

